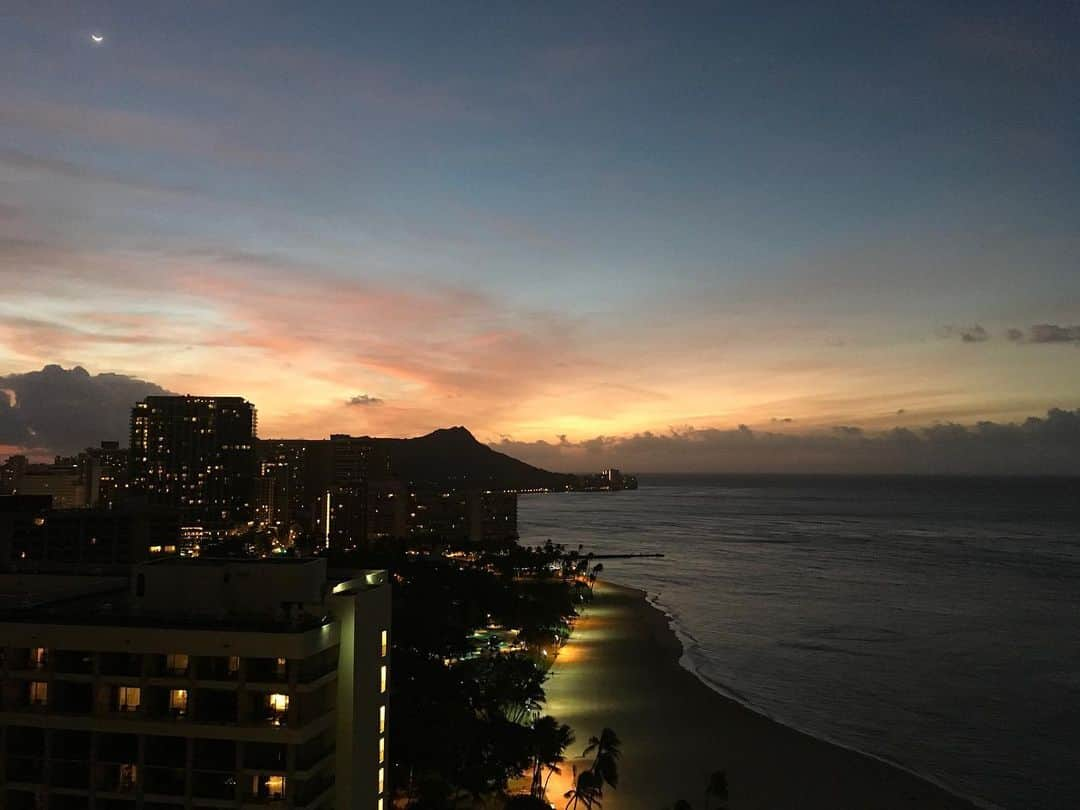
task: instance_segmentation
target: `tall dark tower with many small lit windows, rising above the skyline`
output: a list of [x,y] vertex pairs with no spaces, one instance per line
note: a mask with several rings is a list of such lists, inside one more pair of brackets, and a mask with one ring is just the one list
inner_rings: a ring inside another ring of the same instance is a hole
[[132,409],[131,489],[228,527],[253,517],[255,406],[239,396],[148,396]]

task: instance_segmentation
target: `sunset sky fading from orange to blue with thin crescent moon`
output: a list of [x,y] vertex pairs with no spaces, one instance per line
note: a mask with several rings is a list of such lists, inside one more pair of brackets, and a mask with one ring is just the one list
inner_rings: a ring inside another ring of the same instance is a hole
[[1078,41],[1071,2],[13,0],[0,448],[129,378],[555,467],[1050,423]]

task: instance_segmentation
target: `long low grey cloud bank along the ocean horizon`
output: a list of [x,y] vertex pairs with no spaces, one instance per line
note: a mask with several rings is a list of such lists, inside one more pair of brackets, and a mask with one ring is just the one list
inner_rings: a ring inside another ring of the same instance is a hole
[[1021,422],[951,422],[875,432],[852,426],[791,434],[681,428],[582,442],[501,441],[496,449],[551,470],[636,472],[1080,474],[1080,409]]

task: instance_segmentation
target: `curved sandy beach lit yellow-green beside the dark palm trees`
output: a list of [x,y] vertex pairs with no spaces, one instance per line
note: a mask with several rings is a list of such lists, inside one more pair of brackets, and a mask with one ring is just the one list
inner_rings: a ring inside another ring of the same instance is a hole
[[[727,772],[732,810],[973,807],[718,694],[679,666],[680,654],[666,617],[640,591],[597,583],[552,669],[545,711],[573,728],[568,755],[605,726],[621,738],[619,787],[605,791],[605,810],[661,810],[679,798],[703,810],[715,770]],[[549,787],[559,808],[570,779],[567,767]]]

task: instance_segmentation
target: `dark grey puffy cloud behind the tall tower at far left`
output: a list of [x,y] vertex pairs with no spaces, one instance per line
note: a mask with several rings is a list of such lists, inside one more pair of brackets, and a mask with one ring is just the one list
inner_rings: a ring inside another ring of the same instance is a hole
[[0,376],[0,445],[35,455],[71,454],[102,440],[126,444],[131,407],[168,391],[122,374],[76,366]]

